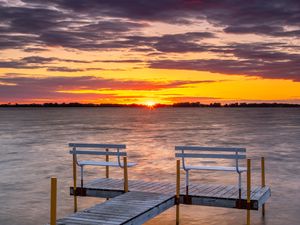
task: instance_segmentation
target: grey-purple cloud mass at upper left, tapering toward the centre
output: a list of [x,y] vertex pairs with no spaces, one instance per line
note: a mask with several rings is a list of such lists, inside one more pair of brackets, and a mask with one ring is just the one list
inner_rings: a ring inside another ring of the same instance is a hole
[[11,7],[0,3],[0,49],[25,48],[30,45],[76,49],[109,48],[113,46],[104,44],[103,41],[114,40],[120,34],[148,26],[145,22],[107,19],[101,14],[78,14],[50,6],[51,1],[35,7]]

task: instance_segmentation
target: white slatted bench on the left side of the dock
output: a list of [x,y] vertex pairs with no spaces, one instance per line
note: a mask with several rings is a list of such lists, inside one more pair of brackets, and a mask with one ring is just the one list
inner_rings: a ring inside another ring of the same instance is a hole
[[[127,153],[124,151],[126,145],[123,144],[87,144],[87,143],[70,143],[70,154],[73,155],[73,161],[80,166],[81,171],[81,188],[83,188],[83,167],[84,166],[105,166],[108,167],[120,167],[124,168],[124,162],[121,162],[121,157],[126,157]],[[82,150],[84,149],[84,150]],[[87,149],[87,150],[86,150]],[[93,150],[94,149],[94,150]],[[97,150],[95,150],[97,149]],[[97,155],[106,156],[105,161],[85,161],[78,160],[77,155]],[[117,161],[108,161],[108,156],[114,156]],[[126,163],[127,167],[135,166],[136,163]],[[108,175],[107,175],[108,178]]]

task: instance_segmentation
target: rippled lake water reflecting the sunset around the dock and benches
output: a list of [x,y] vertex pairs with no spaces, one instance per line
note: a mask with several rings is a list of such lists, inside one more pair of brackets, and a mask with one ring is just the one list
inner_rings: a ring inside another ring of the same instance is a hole
[[[263,220],[253,224],[300,224],[300,109],[134,109],[0,108],[0,224],[45,224],[49,221],[49,177],[58,177],[58,216],[72,213],[68,142],[124,143],[130,179],[175,181],[175,145],[242,146],[254,160],[259,185],[259,157],[266,157],[272,197]],[[113,177],[122,174],[112,171]],[[103,177],[91,169],[87,179]],[[236,175],[194,172],[192,182],[236,183]],[[244,179],[245,180],[245,179]],[[80,208],[101,202],[80,198]],[[174,224],[170,209],[147,224]],[[245,212],[182,206],[182,224],[244,224]]]

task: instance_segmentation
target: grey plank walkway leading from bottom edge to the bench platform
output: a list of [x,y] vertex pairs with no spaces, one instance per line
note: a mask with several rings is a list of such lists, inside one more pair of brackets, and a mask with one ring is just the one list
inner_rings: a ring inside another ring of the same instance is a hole
[[174,205],[174,195],[127,192],[102,204],[59,219],[57,225],[138,225]]

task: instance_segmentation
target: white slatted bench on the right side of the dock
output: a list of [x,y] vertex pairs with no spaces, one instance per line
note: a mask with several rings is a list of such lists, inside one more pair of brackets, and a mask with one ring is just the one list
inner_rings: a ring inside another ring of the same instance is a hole
[[[175,157],[181,158],[182,169],[186,172],[185,184],[188,195],[189,171],[208,170],[236,172],[238,174],[239,197],[241,196],[242,178],[241,174],[247,171],[247,168],[239,166],[239,160],[246,159],[245,148],[224,148],[224,147],[201,147],[201,146],[175,146]],[[187,165],[186,158],[205,158],[205,159],[234,159],[235,166],[197,166]]]

